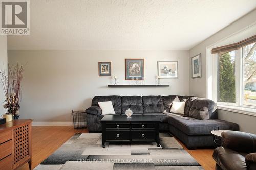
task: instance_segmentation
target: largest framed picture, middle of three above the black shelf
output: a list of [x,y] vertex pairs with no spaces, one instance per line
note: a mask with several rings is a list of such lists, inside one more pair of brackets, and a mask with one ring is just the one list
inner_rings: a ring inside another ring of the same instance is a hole
[[125,80],[144,80],[144,59],[125,59]]

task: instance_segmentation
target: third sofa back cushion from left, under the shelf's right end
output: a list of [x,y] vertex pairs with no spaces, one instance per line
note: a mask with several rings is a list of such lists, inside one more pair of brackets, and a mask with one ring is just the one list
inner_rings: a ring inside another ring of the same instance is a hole
[[143,112],[147,113],[163,113],[163,99],[162,96],[143,96]]

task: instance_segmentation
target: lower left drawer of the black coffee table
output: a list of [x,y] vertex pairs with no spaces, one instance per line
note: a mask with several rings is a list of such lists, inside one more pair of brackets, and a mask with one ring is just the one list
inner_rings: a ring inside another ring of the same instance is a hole
[[106,141],[108,140],[130,140],[130,131],[106,131]]

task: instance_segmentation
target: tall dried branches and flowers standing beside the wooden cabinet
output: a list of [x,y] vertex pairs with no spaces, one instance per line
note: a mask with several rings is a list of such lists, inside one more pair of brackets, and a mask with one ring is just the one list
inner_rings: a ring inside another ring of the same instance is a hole
[[19,117],[21,82],[23,78],[24,65],[8,64],[6,70],[0,70],[1,85],[5,93],[4,108],[6,113],[12,114],[14,119]]

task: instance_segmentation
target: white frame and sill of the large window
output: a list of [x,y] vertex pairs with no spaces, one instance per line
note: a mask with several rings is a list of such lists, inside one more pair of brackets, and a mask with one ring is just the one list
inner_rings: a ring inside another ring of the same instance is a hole
[[[237,32],[234,32],[226,37],[223,37],[216,41],[209,41],[207,42],[208,45],[205,48],[205,54],[206,54],[206,98],[211,99],[217,103],[217,57],[216,54],[211,53],[212,48],[216,48],[223,45],[228,45],[232,43],[236,43],[239,41],[242,41],[248,37],[251,37],[255,35],[256,30],[256,22],[251,23],[250,25],[242,28],[241,30],[238,30]],[[206,44],[207,44],[206,43]],[[241,54],[240,54],[241,55]],[[237,62],[236,62],[237,63]],[[242,62],[240,61],[241,69]],[[240,71],[241,72],[241,71]],[[243,86],[243,79],[242,74],[240,74],[240,85]],[[239,85],[239,86],[240,86]],[[237,100],[239,104],[235,105],[228,105],[229,103],[226,103],[226,105],[221,105],[220,103],[217,103],[217,108],[220,110],[226,110],[231,111],[234,113],[240,113],[240,114],[247,114],[251,116],[256,116],[256,108],[250,107],[247,105],[243,105],[243,98],[240,98],[240,96],[243,96],[243,91],[239,91],[239,97],[237,95]],[[241,105],[242,104],[242,105]]]

